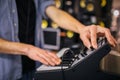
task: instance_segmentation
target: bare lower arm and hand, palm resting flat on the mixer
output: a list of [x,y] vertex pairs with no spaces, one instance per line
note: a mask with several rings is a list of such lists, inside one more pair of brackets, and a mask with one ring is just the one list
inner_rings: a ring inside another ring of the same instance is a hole
[[51,52],[32,45],[10,42],[3,39],[0,39],[0,53],[25,55],[46,65],[57,65],[60,63],[60,59]]

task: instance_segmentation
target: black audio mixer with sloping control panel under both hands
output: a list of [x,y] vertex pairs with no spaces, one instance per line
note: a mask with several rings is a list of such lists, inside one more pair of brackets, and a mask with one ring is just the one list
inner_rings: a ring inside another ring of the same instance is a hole
[[35,80],[89,80],[91,73],[99,73],[100,60],[107,55],[111,47],[105,38],[97,41],[97,49],[87,49],[83,44],[63,48],[57,56],[61,58],[60,65],[41,65],[35,73]]

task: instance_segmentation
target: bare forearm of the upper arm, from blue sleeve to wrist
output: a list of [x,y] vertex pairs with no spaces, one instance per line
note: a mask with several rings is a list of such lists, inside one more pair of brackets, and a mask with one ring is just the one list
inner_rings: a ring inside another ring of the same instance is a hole
[[49,18],[51,18],[54,22],[56,22],[60,27],[64,29],[79,33],[79,31],[83,27],[85,27],[71,15],[62,10],[57,9],[54,6],[48,7],[46,9],[46,14],[48,15]]

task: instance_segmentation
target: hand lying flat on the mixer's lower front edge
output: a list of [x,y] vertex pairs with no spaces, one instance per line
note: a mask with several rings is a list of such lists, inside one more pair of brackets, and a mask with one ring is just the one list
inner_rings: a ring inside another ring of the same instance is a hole
[[49,51],[30,46],[27,50],[27,56],[35,61],[39,61],[45,65],[58,65],[61,60],[54,54]]

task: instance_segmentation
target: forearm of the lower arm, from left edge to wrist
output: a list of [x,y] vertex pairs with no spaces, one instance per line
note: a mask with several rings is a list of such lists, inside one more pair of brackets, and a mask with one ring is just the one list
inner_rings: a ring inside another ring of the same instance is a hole
[[28,45],[0,39],[0,53],[27,55]]

